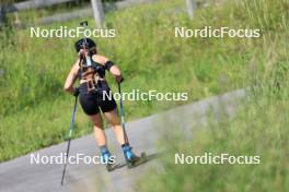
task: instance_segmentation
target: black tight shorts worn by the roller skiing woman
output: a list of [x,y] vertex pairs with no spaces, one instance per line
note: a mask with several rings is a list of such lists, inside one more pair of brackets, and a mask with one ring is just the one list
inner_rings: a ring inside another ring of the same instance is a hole
[[[99,83],[99,88],[95,92],[88,93],[86,83],[82,83],[80,85],[80,95],[79,100],[83,111],[89,115],[96,115],[100,112],[100,108],[103,112],[108,112],[114,110],[117,105],[113,97],[107,97],[109,95],[111,88],[108,87],[106,82]],[[105,95],[106,94],[106,95]]]

